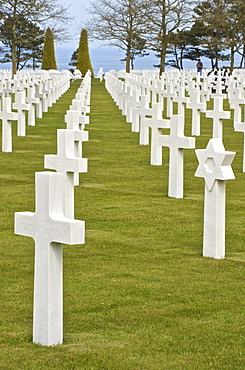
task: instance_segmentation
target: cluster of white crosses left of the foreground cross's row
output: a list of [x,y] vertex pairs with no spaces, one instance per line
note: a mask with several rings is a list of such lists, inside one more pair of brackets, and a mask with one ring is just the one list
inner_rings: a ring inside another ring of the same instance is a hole
[[17,135],[25,136],[26,112],[28,125],[35,126],[35,117],[42,118],[42,113],[69,88],[70,75],[67,71],[23,71],[14,78],[0,73],[0,78],[2,151],[12,152],[12,122],[17,121]]

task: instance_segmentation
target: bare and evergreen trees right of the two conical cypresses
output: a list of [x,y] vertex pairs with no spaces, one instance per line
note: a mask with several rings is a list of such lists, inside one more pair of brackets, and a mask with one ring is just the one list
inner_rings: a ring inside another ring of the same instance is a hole
[[237,53],[245,65],[245,0],[95,0],[88,11],[90,36],[124,50],[127,72],[149,50],[160,73],[203,56],[232,70]]

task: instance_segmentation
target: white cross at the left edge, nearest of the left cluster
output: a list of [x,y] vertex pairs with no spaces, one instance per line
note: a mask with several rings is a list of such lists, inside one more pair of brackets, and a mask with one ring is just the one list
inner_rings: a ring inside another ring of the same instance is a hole
[[12,112],[12,99],[2,98],[2,152],[12,152],[12,121],[18,120],[18,113]]

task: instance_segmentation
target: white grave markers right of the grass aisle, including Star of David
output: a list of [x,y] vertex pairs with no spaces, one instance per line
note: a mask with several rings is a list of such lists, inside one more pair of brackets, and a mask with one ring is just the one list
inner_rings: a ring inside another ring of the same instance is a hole
[[[123,77],[125,82],[123,83],[118,77]],[[230,118],[230,112],[223,110],[225,95],[222,92],[222,83],[220,78],[214,85],[211,77],[208,76],[201,81],[200,76],[193,71],[189,74],[165,73],[158,80],[156,74],[151,78],[149,74],[146,77],[140,73],[133,75],[122,72],[119,76],[115,73],[106,74],[106,87],[116,104],[119,107],[123,107],[123,104],[132,107],[132,114],[127,115],[127,122],[131,117],[132,131],[140,132],[140,144],[148,144],[148,132],[144,132],[141,137],[141,131],[151,128],[150,163],[161,165],[162,146],[169,147],[168,195],[170,197],[183,197],[183,149],[195,148],[195,138],[184,136],[185,106],[192,109],[192,135],[194,136],[200,135],[201,112],[213,119],[213,138],[210,139],[206,149],[196,150],[199,167],[195,176],[205,179],[203,256],[218,259],[225,256],[225,180],[234,178],[231,162],[235,156],[234,152],[225,151],[222,143],[222,122]],[[215,93],[213,86],[215,86]],[[245,101],[241,99],[238,103],[236,94],[238,94],[237,90],[230,92],[230,104],[233,109],[240,109]],[[213,110],[207,110],[206,103],[211,96]],[[167,98],[169,119],[162,118],[164,97]],[[127,99],[128,103],[123,103],[123,99]],[[177,115],[173,114],[174,102],[178,103]],[[125,114],[125,110],[123,113]],[[135,113],[140,117],[139,122],[136,123],[133,122]],[[235,127],[238,129],[238,124]],[[170,134],[162,135],[163,128],[170,128]]]

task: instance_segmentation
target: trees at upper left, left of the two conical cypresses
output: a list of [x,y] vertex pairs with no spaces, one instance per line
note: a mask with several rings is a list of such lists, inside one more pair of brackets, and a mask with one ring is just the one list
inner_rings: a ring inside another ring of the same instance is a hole
[[11,62],[13,74],[38,67],[47,26],[56,39],[68,37],[68,8],[59,0],[0,0],[0,62]]

